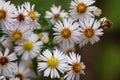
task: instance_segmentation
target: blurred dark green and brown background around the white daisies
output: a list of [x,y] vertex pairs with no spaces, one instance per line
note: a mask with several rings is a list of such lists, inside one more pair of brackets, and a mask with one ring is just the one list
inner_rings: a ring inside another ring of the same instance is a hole
[[[25,1],[35,4],[36,10],[44,15],[53,4],[62,5],[67,11],[71,0],[12,0],[16,5]],[[100,42],[81,49],[82,61],[86,64],[86,75],[81,80],[120,80],[120,0],[97,0],[95,5],[114,26],[104,31]]]

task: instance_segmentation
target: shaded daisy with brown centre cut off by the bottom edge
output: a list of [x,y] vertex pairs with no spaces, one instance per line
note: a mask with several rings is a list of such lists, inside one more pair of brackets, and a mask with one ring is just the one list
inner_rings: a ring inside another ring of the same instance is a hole
[[32,74],[25,62],[20,62],[14,66],[12,73],[7,74],[10,78],[19,78],[19,80],[30,80]]

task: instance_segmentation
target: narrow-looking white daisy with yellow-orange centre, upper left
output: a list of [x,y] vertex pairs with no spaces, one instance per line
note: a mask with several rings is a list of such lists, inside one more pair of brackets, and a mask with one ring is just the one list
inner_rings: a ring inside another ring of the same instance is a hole
[[40,28],[40,24],[38,23],[38,19],[40,17],[40,14],[34,10],[35,5],[33,4],[32,6],[30,5],[30,2],[25,2],[23,4],[24,8],[27,11],[27,15],[29,16],[29,18],[31,19],[30,21],[30,26],[31,29],[35,29],[35,28]]

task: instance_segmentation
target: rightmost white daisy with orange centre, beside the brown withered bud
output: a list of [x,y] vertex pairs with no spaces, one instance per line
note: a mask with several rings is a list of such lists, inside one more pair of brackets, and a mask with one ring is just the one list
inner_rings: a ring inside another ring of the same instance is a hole
[[80,47],[90,42],[92,45],[100,40],[99,36],[103,35],[103,29],[100,28],[100,22],[94,18],[86,18],[80,22]]

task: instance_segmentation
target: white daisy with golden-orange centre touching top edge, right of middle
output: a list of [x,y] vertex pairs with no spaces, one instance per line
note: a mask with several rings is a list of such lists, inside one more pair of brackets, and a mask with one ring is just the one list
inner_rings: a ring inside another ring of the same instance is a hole
[[91,12],[96,10],[95,6],[91,6],[95,3],[94,0],[74,0],[70,5],[70,15],[74,19],[83,19],[85,17],[94,16]]

